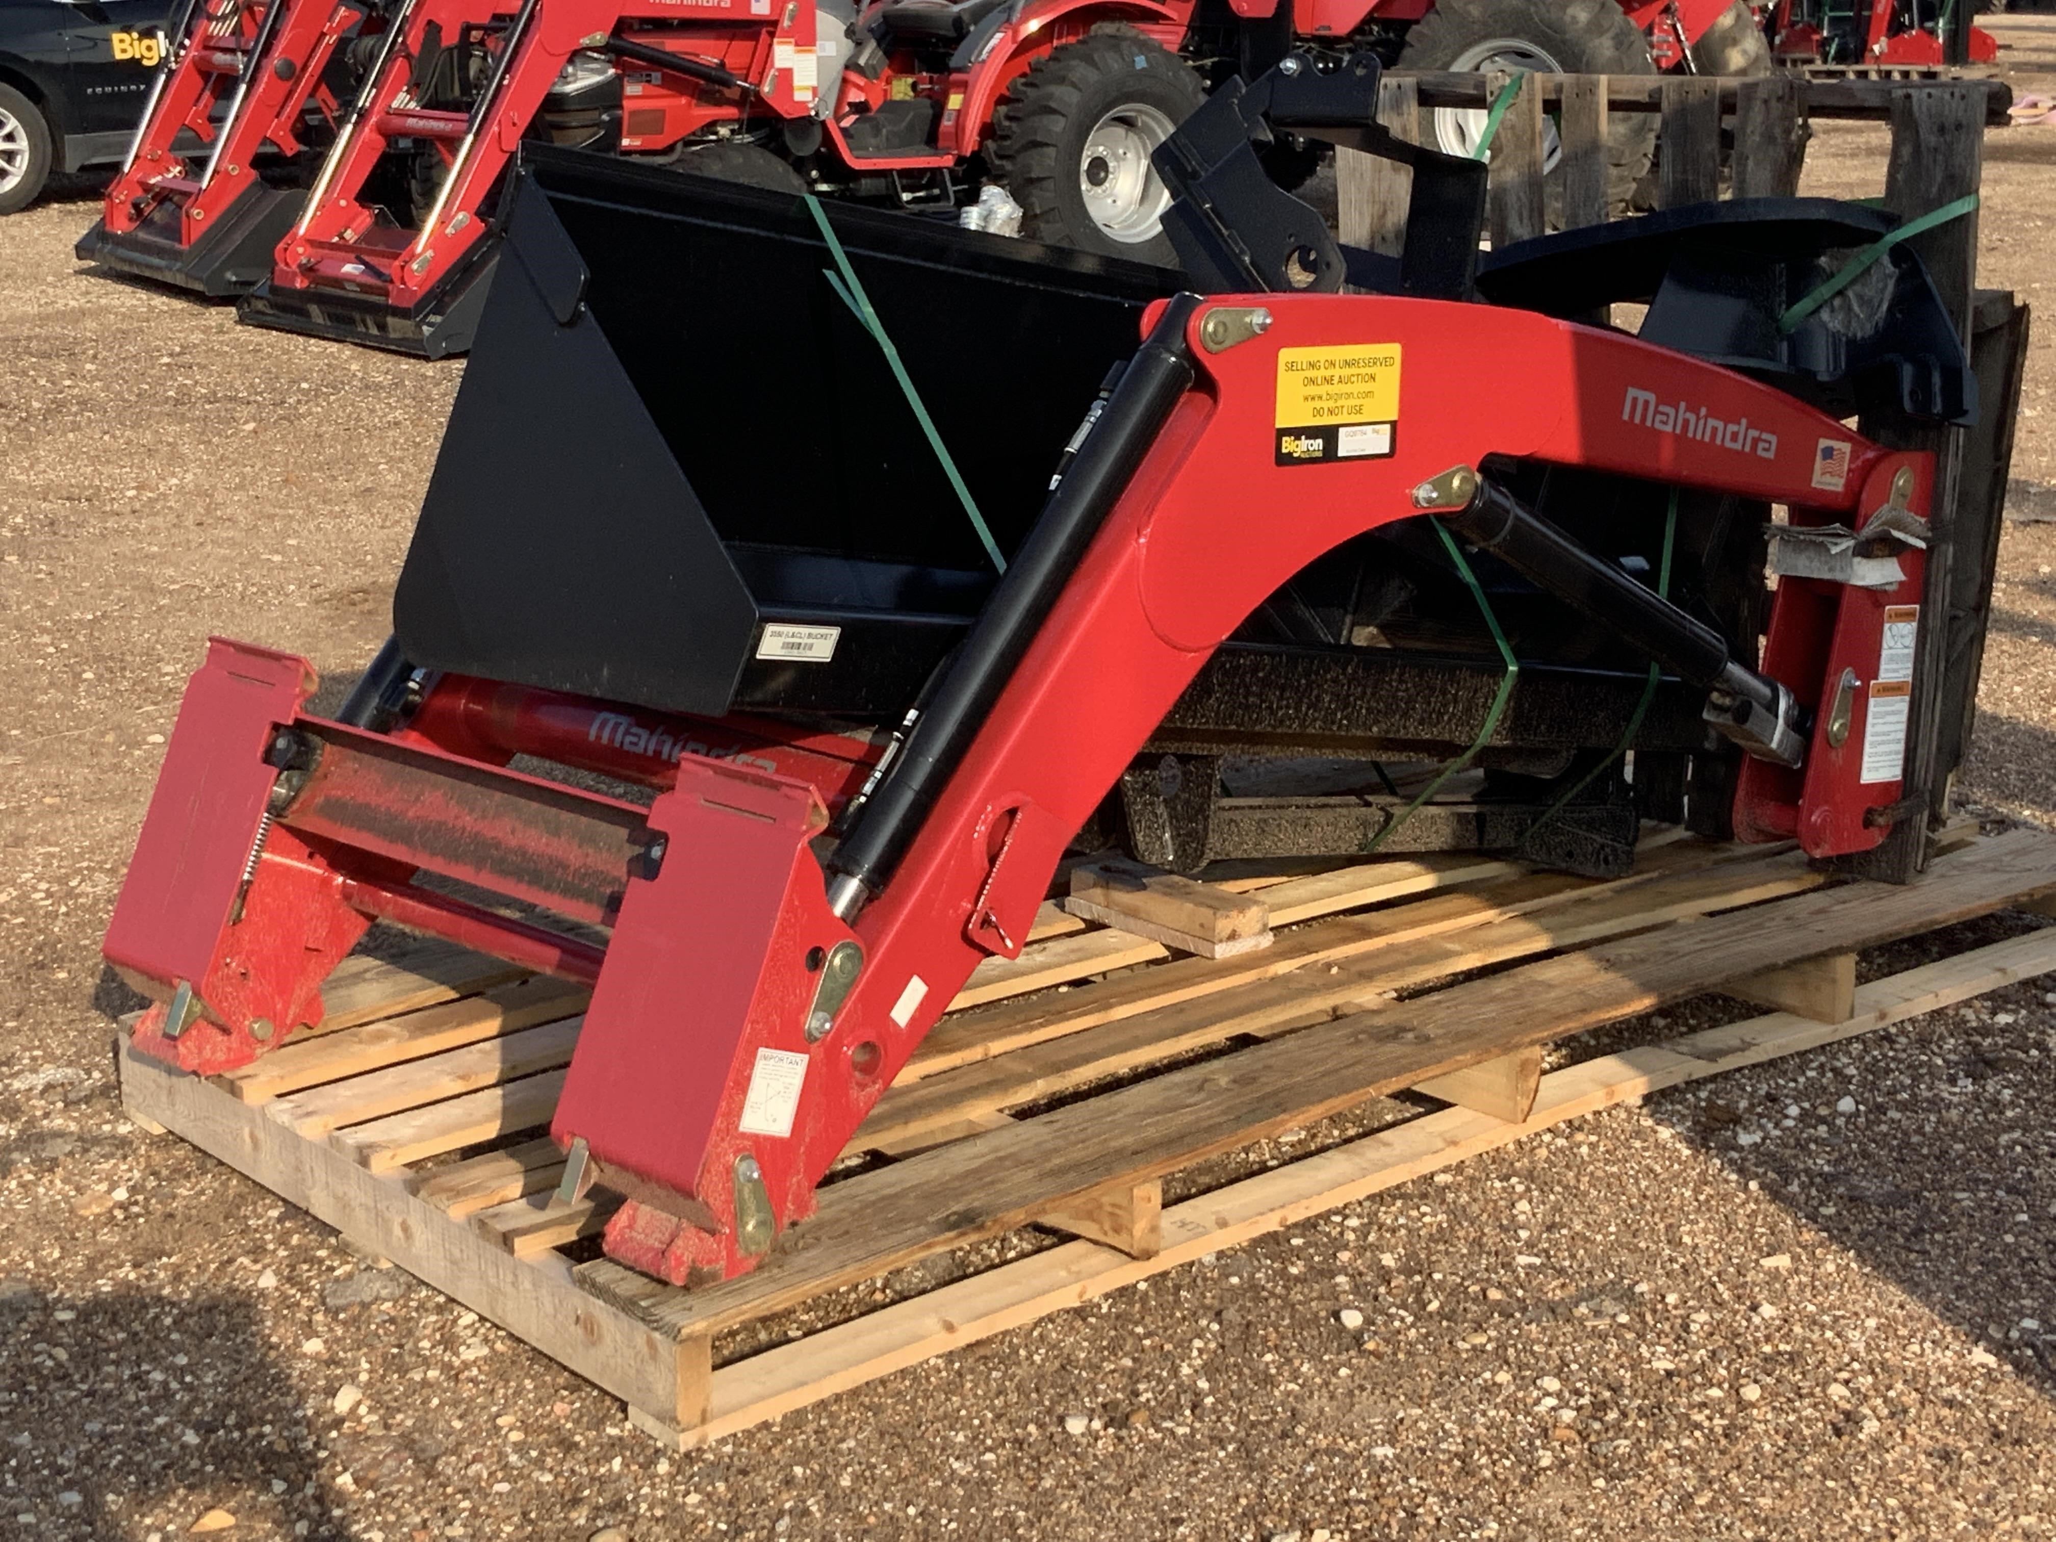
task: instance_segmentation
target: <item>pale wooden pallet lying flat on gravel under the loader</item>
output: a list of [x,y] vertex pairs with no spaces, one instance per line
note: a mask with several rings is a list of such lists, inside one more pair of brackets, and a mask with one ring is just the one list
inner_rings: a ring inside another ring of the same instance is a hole
[[[2056,970],[2052,927],[1855,987],[1859,948],[2056,892],[2056,839],[2029,831],[1963,835],[1904,888],[1672,833],[1614,882],[1449,855],[1260,892],[1275,942],[1225,958],[1044,909],[818,1213],[701,1291],[594,1256],[604,1201],[553,1197],[543,1129],[584,1005],[557,981],[448,946],[354,958],[323,1032],[257,1065],[195,1079],[123,1047],[123,1102],[693,1445],[1532,1129]],[[1540,1075],[1542,1044],[1721,987],[1785,1009]],[[1400,1090],[1449,1106],[1347,1135]],[[1221,1160],[1336,1118],[1318,1155]],[[1001,1236],[1007,1260],[940,1289],[890,1273]],[[792,1308],[831,1326],[787,1343]]]

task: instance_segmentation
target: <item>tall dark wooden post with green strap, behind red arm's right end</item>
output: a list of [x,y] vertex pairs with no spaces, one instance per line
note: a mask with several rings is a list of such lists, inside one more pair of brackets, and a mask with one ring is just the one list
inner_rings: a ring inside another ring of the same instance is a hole
[[[1900,218],[1918,218],[1966,193],[1978,191],[1984,171],[1982,82],[1949,86],[1906,86],[1892,97],[1892,162],[1885,171],[1885,208]],[[1978,276],[1978,212],[1972,210],[1906,243],[1926,263],[1935,292],[1970,339],[1970,296]],[[1906,777],[1902,798],[1926,800],[1922,812],[1908,812],[1875,851],[1848,857],[1840,866],[1865,878],[1904,884],[1926,866],[1931,833],[1949,816],[1953,765],[1941,763],[1949,738],[1945,718],[1961,709],[1961,691],[1974,670],[1951,668],[1949,596],[1957,557],[1957,504],[1963,483],[1963,430],[1945,426],[1898,428],[1859,421],[1859,428],[1896,450],[1931,450],[1935,463],[1935,508],[1929,516],[1935,539],[1929,545],[1922,580],[1920,629],[1914,637],[1914,701],[1906,728]],[[1978,553],[1966,551],[1966,561]],[[1961,660],[1959,660],[1961,662]]]

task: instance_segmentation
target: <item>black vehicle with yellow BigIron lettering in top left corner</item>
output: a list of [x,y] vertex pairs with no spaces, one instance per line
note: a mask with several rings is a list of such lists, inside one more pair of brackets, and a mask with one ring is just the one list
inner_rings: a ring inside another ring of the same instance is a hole
[[173,0],[0,0],[0,214],[51,173],[119,162]]

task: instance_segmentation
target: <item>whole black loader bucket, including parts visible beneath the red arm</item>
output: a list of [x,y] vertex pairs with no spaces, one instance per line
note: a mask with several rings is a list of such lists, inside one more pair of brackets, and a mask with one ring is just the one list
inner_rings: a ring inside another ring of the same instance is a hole
[[[1190,282],[574,150],[526,152],[510,193],[399,646],[705,718],[896,726],[1028,539],[1145,308]],[[1758,633],[1762,506],[1499,475],[1626,572],[1653,576],[1674,526],[1672,600]],[[1427,522],[1312,563],[1201,668],[1086,839],[1186,872],[1441,847],[1620,872],[1639,794],[1725,818],[1733,757],[1706,752],[1700,689],[1651,687],[1647,654],[1489,553],[1474,570],[1491,619]],[[1495,623],[1521,660],[1499,709]],[[1464,779],[1396,820],[1460,755]],[[1343,771],[1277,775],[1287,761]]]

